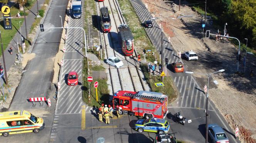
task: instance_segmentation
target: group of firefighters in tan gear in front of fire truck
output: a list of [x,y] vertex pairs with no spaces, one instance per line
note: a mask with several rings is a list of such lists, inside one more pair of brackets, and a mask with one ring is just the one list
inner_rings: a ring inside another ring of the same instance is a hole
[[[117,114],[117,117],[119,118],[120,117],[119,112],[122,108],[117,105],[116,109],[117,109],[116,114]],[[109,117],[113,118],[113,107],[111,107],[111,105],[101,104],[101,107],[99,107],[98,115],[99,115],[99,122],[103,122],[102,119],[104,116],[106,124],[109,124]]]

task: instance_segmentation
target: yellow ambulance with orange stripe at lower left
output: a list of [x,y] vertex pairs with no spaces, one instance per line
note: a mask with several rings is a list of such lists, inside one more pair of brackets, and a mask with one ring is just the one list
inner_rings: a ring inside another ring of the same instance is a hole
[[45,127],[42,118],[32,115],[25,110],[1,112],[0,113],[0,134],[7,137],[16,133],[38,133]]

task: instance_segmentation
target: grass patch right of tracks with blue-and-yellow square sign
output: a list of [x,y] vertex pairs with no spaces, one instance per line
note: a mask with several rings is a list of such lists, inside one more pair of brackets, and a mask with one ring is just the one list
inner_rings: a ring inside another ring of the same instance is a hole
[[177,92],[175,91],[176,89],[173,89],[174,86],[173,86],[173,81],[171,77],[166,76],[164,78],[163,84],[165,86],[156,87],[155,83],[161,82],[161,76],[150,75],[150,73],[148,73],[147,64],[141,64],[140,67],[152,91],[161,92],[165,95],[168,95],[168,103],[172,102],[177,98],[178,95],[177,95]]

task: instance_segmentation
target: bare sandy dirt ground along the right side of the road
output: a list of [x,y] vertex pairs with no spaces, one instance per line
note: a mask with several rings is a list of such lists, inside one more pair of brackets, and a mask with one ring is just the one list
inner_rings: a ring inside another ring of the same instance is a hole
[[[178,4],[178,1],[176,1],[174,1],[175,4]],[[230,64],[236,63],[234,55],[236,55],[237,49],[234,45],[226,41],[217,42],[214,38],[202,38],[202,28],[200,27],[202,17],[197,12],[192,11],[190,7],[181,6],[179,11],[179,6],[175,5],[174,9],[177,12],[173,13],[163,0],[143,0],[143,2],[148,4],[148,10],[152,15],[155,15],[155,17],[162,16],[164,33],[171,37],[171,44],[176,51],[184,53],[193,49],[204,59],[206,56],[211,59],[220,59],[219,61],[202,60],[202,63],[197,67],[189,67],[189,70],[212,73],[217,68],[210,69],[207,64],[221,64],[226,67],[227,73],[214,76],[219,85],[209,90],[209,94],[212,95],[210,95],[210,99],[233,131],[236,127],[239,128],[239,139],[242,143],[256,143],[256,78],[249,76],[249,69],[246,70],[245,74],[235,74],[236,64]],[[182,1],[182,4],[184,3],[186,2]],[[180,18],[179,16],[183,17]],[[160,20],[161,18],[158,19],[158,23],[160,23]],[[217,30],[211,29],[211,31]],[[250,58],[251,61],[249,62],[251,62],[251,67],[255,71],[256,59],[253,56]],[[198,74],[194,74],[194,76],[197,79],[203,78],[204,81],[207,81],[204,76],[201,77]]]

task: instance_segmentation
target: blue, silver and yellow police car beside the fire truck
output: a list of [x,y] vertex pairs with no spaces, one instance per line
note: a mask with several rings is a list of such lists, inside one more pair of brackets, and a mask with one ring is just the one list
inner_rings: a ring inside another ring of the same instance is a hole
[[155,133],[167,133],[170,129],[170,125],[167,120],[160,118],[140,119],[135,123],[135,130],[139,133],[143,131],[155,132]]

